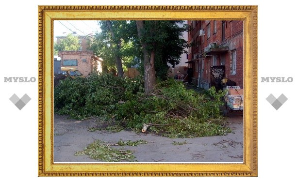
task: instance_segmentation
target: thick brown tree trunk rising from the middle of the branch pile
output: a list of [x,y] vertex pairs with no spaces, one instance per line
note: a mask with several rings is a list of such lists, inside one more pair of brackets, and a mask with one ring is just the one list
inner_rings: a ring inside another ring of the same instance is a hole
[[155,73],[155,51],[152,50],[151,53],[148,53],[147,45],[142,41],[144,21],[136,21],[138,37],[140,39],[141,46],[143,47],[144,54],[144,77],[145,77],[145,93],[151,92],[156,84],[156,73]]

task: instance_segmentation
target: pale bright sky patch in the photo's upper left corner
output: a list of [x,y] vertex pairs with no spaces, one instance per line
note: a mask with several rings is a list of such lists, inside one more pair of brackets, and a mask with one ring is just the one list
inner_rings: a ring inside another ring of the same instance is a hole
[[64,32],[85,35],[96,31],[99,31],[97,20],[54,20],[54,37],[61,36]]

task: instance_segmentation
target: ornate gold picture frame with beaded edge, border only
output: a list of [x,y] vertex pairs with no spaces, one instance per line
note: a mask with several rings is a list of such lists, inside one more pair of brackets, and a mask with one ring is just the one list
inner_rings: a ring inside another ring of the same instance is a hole
[[[244,21],[243,164],[54,164],[53,20]],[[38,6],[38,176],[257,176],[257,6]]]

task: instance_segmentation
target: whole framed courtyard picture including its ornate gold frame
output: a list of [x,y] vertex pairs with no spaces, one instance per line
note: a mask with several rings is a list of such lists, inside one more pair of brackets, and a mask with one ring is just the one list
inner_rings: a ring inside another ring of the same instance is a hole
[[257,176],[257,6],[39,6],[39,176]]

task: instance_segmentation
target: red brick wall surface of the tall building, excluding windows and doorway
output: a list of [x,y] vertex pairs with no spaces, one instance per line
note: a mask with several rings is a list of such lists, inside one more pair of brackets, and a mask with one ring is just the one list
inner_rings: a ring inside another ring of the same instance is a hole
[[[193,25],[194,21],[189,21],[189,25]],[[198,78],[199,66],[201,66],[201,81],[205,83],[210,82],[210,66],[211,65],[225,65],[225,75],[227,78],[234,80],[237,85],[243,88],[243,21],[241,20],[207,20],[198,21],[195,24],[196,27],[192,31],[192,34],[188,35],[188,43],[197,42],[198,31],[203,29],[205,31],[204,36],[198,36],[199,46],[192,47],[192,55],[189,55],[189,60],[194,61],[194,77]],[[216,25],[216,31],[214,31],[214,25]],[[224,28],[223,28],[224,25]],[[208,29],[210,26],[210,29]],[[223,29],[225,29],[225,34],[223,35]],[[208,37],[208,32],[210,37]],[[215,53],[213,55],[206,56],[206,58],[199,58],[198,61],[193,59],[195,53],[203,53],[204,48],[210,43],[216,43],[217,46],[228,47],[227,52]],[[199,52],[201,49],[201,52]],[[232,61],[232,50],[236,50],[236,73],[230,73],[230,65]],[[215,56],[216,62],[214,63],[213,57]],[[202,64],[203,62],[203,64]],[[202,67],[204,65],[204,67]]]

